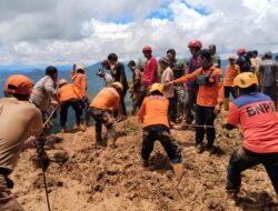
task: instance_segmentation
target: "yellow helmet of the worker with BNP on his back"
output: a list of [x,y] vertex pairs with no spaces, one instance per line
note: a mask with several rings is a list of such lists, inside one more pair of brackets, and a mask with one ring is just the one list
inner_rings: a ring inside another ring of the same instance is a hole
[[252,72],[242,72],[234,80],[234,87],[248,88],[252,84],[258,86],[258,78]]

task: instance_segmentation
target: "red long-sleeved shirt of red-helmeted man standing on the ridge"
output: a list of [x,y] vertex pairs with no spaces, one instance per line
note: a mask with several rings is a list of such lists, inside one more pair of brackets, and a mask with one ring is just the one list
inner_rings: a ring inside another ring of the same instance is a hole
[[143,86],[150,87],[152,83],[157,82],[157,68],[158,63],[155,57],[151,57],[145,62],[142,73]]

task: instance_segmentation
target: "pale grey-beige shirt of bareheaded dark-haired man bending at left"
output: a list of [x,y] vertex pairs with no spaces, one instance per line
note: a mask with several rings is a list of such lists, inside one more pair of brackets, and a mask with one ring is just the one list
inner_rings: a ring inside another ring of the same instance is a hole
[[34,93],[31,94],[30,101],[34,103],[41,111],[47,111],[51,98],[56,93],[54,81],[46,76],[41,78],[33,87]]

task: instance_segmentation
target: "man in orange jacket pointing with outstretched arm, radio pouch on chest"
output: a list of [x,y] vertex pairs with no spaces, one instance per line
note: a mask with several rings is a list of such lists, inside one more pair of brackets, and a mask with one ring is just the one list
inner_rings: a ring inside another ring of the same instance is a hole
[[[207,150],[214,153],[216,130],[212,127],[216,115],[221,110],[221,104],[224,101],[222,73],[220,69],[216,68],[212,64],[212,57],[208,49],[200,50],[199,63],[201,67],[195,72],[168,82],[167,86],[197,80],[197,83],[199,86],[196,109],[197,152],[201,153],[205,150],[202,141],[206,132],[208,140]],[[206,128],[206,125],[208,125],[209,128]]]

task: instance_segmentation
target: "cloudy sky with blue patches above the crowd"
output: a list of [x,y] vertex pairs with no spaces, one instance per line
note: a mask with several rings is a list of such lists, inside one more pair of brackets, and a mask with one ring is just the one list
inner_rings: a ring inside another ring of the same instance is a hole
[[214,43],[221,58],[238,48],[278,52],[278,0],[9,0],[0,1],[0,66],[120,61],[188,42]]

